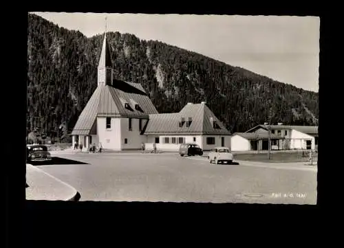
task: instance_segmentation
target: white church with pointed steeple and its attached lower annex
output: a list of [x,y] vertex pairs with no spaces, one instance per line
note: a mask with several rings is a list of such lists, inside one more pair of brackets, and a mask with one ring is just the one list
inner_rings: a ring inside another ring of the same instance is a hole
[[206,106],[188,103],[178,113],[158,113],[141,84],[114,78],[107,35],[98,63],[98,86],[80,113],[72,142],[101,144],[105,150],[178,150],[198,144],[203,150],[230,147],[230,133]]

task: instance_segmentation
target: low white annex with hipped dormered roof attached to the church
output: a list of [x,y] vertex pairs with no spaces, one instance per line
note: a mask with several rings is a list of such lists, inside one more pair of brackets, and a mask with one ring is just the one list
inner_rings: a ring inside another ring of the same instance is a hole
[[189,103],[179,113],[149,115],[147,146],[160,150],[177,150],[182,143],[195,143],[203,150],[215,146],[230,147],[230,133],[206,106]]

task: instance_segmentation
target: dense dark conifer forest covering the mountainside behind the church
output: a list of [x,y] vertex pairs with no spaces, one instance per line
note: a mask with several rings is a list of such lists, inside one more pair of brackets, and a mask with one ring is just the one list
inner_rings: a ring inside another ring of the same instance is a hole
[[[133,34],[109,32],[116,77],[140,82],[160,113],[205,101],[231,132],[264,122],[316,124],[319,94]],[[103,35],[28,14],[28,132],[65,136],[97,85]]]

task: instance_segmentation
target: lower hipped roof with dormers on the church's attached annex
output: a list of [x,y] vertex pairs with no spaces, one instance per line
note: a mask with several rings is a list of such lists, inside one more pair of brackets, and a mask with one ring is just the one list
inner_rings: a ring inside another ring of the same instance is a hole
[[[184,117],[184,124],[179,123]],[[190,126],[186,126],[191,117]],[[211,118],[219,128],[213,128]],[[160,113],[149,115],[149,122],[144,130],[147,135],[230,135],[229,131],[217,119],[206,104],[186,104],[179,113]]]

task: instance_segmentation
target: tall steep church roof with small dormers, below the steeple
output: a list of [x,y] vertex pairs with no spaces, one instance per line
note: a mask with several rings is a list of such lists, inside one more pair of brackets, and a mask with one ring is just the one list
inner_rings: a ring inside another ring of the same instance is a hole
[[[123,100],[129,104],[129,109],[125,108]],[[140,109],[132,106],[131,100],[135,101]],[[148,119],[152,113],[158,111],[141,86],[119,80],[114,81],[114,86],[99,84],[78,117],[72,135],[90,135],[96,117]]]

